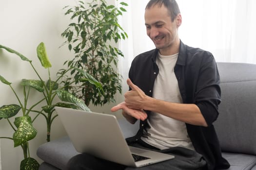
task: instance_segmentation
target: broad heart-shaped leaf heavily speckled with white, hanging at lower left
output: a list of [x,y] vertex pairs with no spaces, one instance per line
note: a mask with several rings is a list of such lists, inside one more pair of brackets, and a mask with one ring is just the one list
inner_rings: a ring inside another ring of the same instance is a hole
[[18,128],[13,134],[14,147],[20,146],[36,137],[37,130],[32,126],[29,116],[15,118],[14,124]]

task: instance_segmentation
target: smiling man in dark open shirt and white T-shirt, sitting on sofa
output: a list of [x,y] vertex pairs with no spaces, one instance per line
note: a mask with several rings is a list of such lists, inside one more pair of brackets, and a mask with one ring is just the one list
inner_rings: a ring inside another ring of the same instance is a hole
[[[221,156],[212,125],[220,102],[217,65],[210,52],[180,41],[181,23],[175,0],[148,2],[145,25],[156,49],[133,60],[127,80],[130,91],[125,93],[125,101],[111,110],[122,109],[123,116],[131,123],[140,120],[137,135],[127,139],[130,145],[176,156],[140,169],[227,169],[230,165]],[[80,162],[73,159],[70,164],[83,167],[89,164],[81,163],[85,159],[91,158],[80,156]],[[117,166],[115,169],[132,169],[106,161],[104,164]]]

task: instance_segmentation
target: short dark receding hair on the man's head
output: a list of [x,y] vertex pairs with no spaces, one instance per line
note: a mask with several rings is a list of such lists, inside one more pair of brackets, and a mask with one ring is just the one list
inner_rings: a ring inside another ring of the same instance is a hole
[[177,17],[177,15],[180,14],[176,0],[149,0],[146,9],[149,9],[150,7],[157,4],[159,6],[162,6],[163,4],[168,9],[169,15],[172,18],[172,22],[174,21],[175,17]]

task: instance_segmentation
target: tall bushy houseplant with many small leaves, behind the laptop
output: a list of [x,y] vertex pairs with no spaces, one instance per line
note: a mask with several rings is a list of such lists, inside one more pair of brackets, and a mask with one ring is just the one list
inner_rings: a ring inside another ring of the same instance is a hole
[[[127,3],[120,2],[122,7],[107,5],[105,0],[92,0],[89,3],[79,1],[74,7],[66,6],[65,15],[71,15],[72,23],[61,34],[70,51],[75,57],[66,61],[67,69],[71,68],[70,76],[63,80],[66,90],[82,99],[88,106],[103,105],[114,102],[114,95],[121,93],[121,76],[118,73],[118,56],[122,52],[115,47],[118,40],[127,38],[127,34],[118,24],[118,16],[126,10]],[[112,45],[114,44],[114,45]],[[81,73],[77,69],[87,71],[101,83],[103,93],[89,82],[80,81]],[[59,70],[62,74],[67,69]],[[75,82],[75,85],[69,85]]]

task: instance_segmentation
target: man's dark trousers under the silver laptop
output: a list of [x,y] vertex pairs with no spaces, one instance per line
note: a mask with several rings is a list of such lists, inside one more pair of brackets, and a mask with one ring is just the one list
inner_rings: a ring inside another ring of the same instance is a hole
[[158,150],[140,140],[131,144],[139,148],[155,150],[161,153],[175,155],[174,159],[159,162],[141,168],[126,167],[114,162],[94,157],[87,153],[81,153],[71,158],[67,165],[67,170],[205,170],[206,162],[202,155],[181,147],[174,147],[166,150]]

